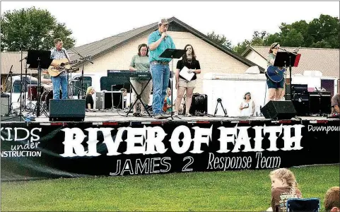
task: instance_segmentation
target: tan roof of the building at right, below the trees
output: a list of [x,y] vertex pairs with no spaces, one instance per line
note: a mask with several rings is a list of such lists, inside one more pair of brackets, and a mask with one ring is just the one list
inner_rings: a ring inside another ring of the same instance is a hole
[[[293,51],[295,47],[281,47],[288,51]],[[251,51],[257,52],[261,57],[267,59],[269,47],[250,46],[242,53],[246,57]],[[298,67],[292,67],[292,74],[303,71],[321,71],[322,76],[331,76],[340,78],[339,73],[339,49],[321,49],[321,48],[300,48],[301,54]]]

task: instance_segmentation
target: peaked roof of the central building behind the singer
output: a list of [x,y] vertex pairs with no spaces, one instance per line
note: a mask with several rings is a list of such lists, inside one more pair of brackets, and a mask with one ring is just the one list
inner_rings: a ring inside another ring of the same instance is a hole
[[[194,28],[190,27],[186,23],[183,23],[181,20],[178,20],[177,18],[172,17],[172,18],[169,18],[168,21],[170,25],[174,25],[174,24],[180,25],[180,27],[184,28],[187,32],[192,33],[193,35],[199,37],[201,40],[204,40],[205,42],[208,42],[210,45],[213,45],[213,47],[220,49],[222,52],[225,52],[231,57],[238,59],[238,61],[241,61],[243,64],[246,64],[247,66],[257,66],[257,64],[254,64],[252,61],[245,59],[244,57],[241,57],[238,54],[235,54],[235,52],[224,47],[223,45],[213,42],[213,40],[211,40],[209,37],[207,37],[203,33],[200,33],[198,30],[195,30]],[[75,47],[74,49],[76,49],[76,51],[79,52],[83,56],[92,55],[92,57],[95,58],[95,57],[99,57],[102,54],[110,52],[112,49],[115,49],[117,47],[124,45],[130,40],[134,40],[136,37],[148,35],[152,31],[157,30],[157,29],[158,29],[158,23],[151,23],[141,28],[129,30],[125,33],[120,33],[112,37],[107,37],[105,39],[98,40],[96,42],[91,42],[87,45]],[[73,54],[71,56],[72,60],[78,59],[78,58],[79,57],[76,54]],[[259,69],[262,72],[264,71],[264,69],[262,69],[261,67],[259,67]]]

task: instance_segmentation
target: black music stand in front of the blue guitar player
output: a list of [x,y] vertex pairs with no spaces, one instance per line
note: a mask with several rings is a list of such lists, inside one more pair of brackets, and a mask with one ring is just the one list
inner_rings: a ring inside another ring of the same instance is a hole
[[[273,66],[285,67],[289,66],[289,95],[292,97],[292,66],[298,67],[301,54],[288,52],[286,49],[280,48],[284,52],[277,52]],[[291,98],[292,99],[292,98]]]

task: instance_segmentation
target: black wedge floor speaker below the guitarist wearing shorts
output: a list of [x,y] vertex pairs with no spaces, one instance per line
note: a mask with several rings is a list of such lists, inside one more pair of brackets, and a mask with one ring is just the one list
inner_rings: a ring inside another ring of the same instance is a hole
[[291,101],[269,101],[261,112],[266,119],[291,119],[296,115]]

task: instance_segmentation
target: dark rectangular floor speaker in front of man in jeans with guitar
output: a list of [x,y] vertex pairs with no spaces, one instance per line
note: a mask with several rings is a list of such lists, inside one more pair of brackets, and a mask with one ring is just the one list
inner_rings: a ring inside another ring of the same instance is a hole
[[83,122],[85,100],[49,100],[49,121]]

